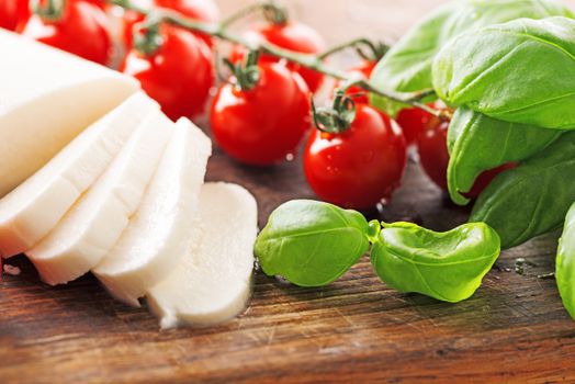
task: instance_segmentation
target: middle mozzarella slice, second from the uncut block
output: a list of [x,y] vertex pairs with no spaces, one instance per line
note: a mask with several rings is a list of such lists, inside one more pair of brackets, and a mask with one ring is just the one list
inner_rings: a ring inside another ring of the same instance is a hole
[[154,111],[92,188],[25,252],[46,283],[81,276],[112,249],[142,201],[173,125]]

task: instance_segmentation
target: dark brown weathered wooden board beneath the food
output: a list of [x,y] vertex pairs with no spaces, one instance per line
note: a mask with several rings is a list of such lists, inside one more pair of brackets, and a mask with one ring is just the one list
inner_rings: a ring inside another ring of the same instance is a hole
[[[252,191],[260,225],[280,203],[313,197],[298,161],[252,169],[216,150],[208,179]],[[448,229],[466,215],[411,163],[382,217]],[[387,289],[367,258],[323,289],[257,272],[239,318],[169,331],[90,275],[48,287],[19,257],[10,262],[22,274],[0,285],[0,383],[575,381],[575,321],[555,282],[537,278],[553,270],[555,248],[548,236],[505,252],[484,286],[454,305]],[[514,272],[518,258],[533,263],[526,275]]]

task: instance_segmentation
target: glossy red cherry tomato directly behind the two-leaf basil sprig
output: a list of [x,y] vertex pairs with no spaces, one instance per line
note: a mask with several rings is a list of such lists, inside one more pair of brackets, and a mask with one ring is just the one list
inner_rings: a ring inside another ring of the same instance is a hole
[[323,200],[347,208],[375,206],[401,185],[407,163],[405,138],[390,117],[357,104],[356,121],[340,134],[315,131],[305,148],[309,187]]

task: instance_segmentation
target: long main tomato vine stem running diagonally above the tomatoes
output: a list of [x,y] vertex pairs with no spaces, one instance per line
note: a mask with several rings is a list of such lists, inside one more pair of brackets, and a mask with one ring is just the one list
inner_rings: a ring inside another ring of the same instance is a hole
[[[154,13],[154,15],[161,21],[165,21],[167,23],[170,23],[177,26],[184,27],[190,31],[203,33],[205,35],[211,35],[213,37],[216,37],[216,38],[219,38],[219,39],[223,39],[223,41],[236,44],[236,45],[241,45],[241,46],[247,47],[250,50],[260,50],[261,53],[270,55],[270,56],[284,58],[302,67],[316,70],[318,72],[322,72],[326,76],[329,76],[338,80],[346,81],[350,79],[349,75],[346,74],[345,71],[331,68],[328,65],[326,65],[322,60],[320,56],[295,53],[292,50],[280,48],[267,42],[258,42],[258,43],[249,42],[240,36],[237,36],[233,32],[230,32],[226,27],[226,25],[223,23],[200,22],[193,19],[184,18],[178,12],[174,12],[168,9],[164,9],[164,8],[157,8],[154,10],[145,9],[145,8],[134,4],[131,0],[111,0],[111,1],[112,3],[116,5],[120,5],[124,9],[134,10],[144,15]],[[360,79],[357,81],[356,86],[364,89],[368,92],[375,93],[377,95],[386,98],[391,101],[395,101],[398,103],[408,104],[408,105],[418,108],[437,117],[450,118],[449,112],[446,112],[443,110],[436,110],[422,103],[420,101],[421,99],[420,99],[419,92],[416,92],[413,94],[411,93],[405,94],[405,93],[385,91],[379,88],[377,86],[375,86],[369,79]]]

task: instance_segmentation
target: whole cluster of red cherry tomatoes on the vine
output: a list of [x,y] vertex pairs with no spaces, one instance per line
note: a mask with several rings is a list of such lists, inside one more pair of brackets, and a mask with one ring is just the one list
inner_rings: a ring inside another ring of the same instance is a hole
[[[49,1],[38,3],[46,7]],[[213,0],[133,2],[171,9],[203,22],[219,19]],[[31,12],[29,3],[30,0],[0,0],[0,27],[110,65],[114,44],[108,16],[111,5],[106,1],[67,0],[57,18]],[[134,41],[134,32],[144,19],[135,11],[123,12],[120,39],[125,55],[120,70],[137,78],[171,118],[193,118],[204,113],[215,86],[214,42],[206,35],[160,24],[154,36],[158,46],[143,52]],[[285,20],[253,25],[244,37],[311,55],[326,48],[316,31]],[[241,67],[247,56],[246,48],[235,46],[229,61]],[[369,77],[375,64],[375,60],[365,60],[349,72]],[[398,188],[406,168],[407,148],[417,145],[424,169],[446,189],[448,122],[417,109],[406,109],[393,121],[370,105],[361,89],[350,88],[348,93],[356,103],[351,125],[340,133],[313,129],[311,97],[324,84],[324,75],[269,55],[259,57],[257,72],[257,81],[251,87],[239,87],[234,78],[224,82],[211,104],[213,136],[233,158],[248,165],[268,166],[283,161],[307,139],[303,156],[305,176],[316,194],[340,206],[370,208]],[[492,177],[482,177],[481,185],[473,193],[477,194]]]

